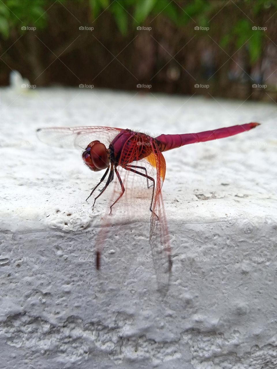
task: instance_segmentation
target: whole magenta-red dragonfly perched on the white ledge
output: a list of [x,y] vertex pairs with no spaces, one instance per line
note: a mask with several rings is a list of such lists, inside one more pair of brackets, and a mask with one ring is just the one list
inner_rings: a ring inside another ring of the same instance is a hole
[[[158,277],[158,284],[163,286],[170,275],[171,259],[169,234],[161,193],[166,167],[162,152],[194,144],[195,142],[233,136],[240,132],[249,131],[257,125],[259,123],[247,123],[194,134],[162,134],[155,138],[141,132],[111,127],[43,128],[38,129],[37,134],[42,142],[52,146],[63,148],[86,147],[82,158],[88,168],[93,172],[105,170],[99,183],[89,195],[89,197],[92,196],[98,186],[102,182],[105,183],[98,196],[95,197],[93,206],[96,199],[103,194],[114,180],[114,174],[116,175],[121,186],[121,192],[110,205],[110,214],[114,204],[119,201],[125,192],[125,180],[120,176],[119,167],[129,173],[133,172],[138,176],[145,177],[148,188],[151,187],[149,183],[152,182],[150,245],[154,267],[157,276],[160,276]],[[90,143],[87,145],[89,141]],[[148,168],[154,170],[155,175],[149,175],[147,164]],[[100,248],[96,251],[96,268],[100,268]]]

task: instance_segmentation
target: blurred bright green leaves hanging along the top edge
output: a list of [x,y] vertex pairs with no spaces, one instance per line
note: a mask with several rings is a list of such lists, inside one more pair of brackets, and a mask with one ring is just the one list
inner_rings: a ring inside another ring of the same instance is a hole
[[[171,20],[177,27],[183,27],[192,20],[199,26],[207,27],[209,21],[225,6],[227,1],[221,0],[74,0],[76,6],[86,2],[89,4],[92,19],[95,20],[103,11],[112,14],[114,21],[123,36],[127,35],[129,25],[137,27],[143,25],[148,18],[154,18],[158,14]],[[1,0],[0,1],[0,34],[8,38],[14,27],[28,25],[43,29],[47,26],[47,10],[56,1],[49,0]],[[59,0],[60,4],[66,4],[65,0]],[[251,0],[235,1],[237,6],[245,10],[247,8],[256,18],[269,7],[277,7],[277,1]],[[235,24],[228,24],[220,39],[220,46],[224,49],[229,42],[236,42],[237,48],[244,44],[250,56],[250,64],[253,65],[262,53],[262,41],[266,37],[265,32],[253,30],[253,23],[243,11],[240,19]],[[221,15],[222,16],[222,15]]]

